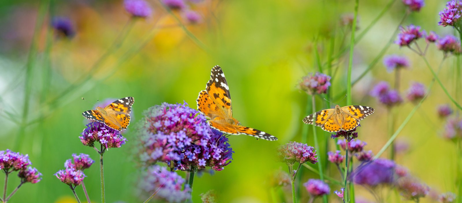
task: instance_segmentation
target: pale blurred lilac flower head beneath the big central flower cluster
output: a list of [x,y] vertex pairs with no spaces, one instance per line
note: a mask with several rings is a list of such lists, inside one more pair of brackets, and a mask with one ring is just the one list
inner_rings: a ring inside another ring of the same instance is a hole
[[147,172],[142,175],[138,186],[141,191],[149,195],[160,188],[155,198],[180,203],[191,198],[191,188],[184,183],[185,180],[180,175],[170,172],[165,167],[154,165],[148,167]]

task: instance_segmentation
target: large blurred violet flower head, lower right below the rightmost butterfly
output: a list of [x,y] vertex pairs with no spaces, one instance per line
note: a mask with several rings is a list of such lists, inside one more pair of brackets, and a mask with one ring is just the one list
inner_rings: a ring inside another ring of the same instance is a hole
[[395,162],[388,159],[376,159],[356,168],[351,175],[358,185],[375,187],[389,185],[395,181]]

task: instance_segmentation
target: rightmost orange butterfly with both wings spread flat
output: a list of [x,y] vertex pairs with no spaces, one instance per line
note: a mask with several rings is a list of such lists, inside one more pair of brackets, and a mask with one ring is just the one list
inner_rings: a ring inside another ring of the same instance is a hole
[[321,110],[310,116],[306,116],[303,122],[320,126],[328,132],[348,131],[356,128],[360,120],[363,120],[372,113],[374,113],[374,109],[368,106],[352,105],[340,107],[336,105],[334,109]]

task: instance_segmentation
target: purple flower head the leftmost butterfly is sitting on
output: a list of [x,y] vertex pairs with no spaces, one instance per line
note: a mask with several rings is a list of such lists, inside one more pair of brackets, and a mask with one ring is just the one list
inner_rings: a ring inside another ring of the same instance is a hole
[[101,143],[106,148],[119,148],[125,144],[125,139],[118,130],[109,128],[101,122],[91,122],[86,125],[80,141],[85,146],[93,147],[95,142]]

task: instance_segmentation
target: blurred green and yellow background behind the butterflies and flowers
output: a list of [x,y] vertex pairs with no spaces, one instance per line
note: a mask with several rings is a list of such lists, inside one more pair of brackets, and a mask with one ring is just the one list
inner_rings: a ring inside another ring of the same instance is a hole
[[[297,89],[297,82],[309,72],[317,71],[316,48],[321,61],[327,60],[329,33],[337,31],[335,50],[347,45],[350,35],[344,32],[345,28],[342,31],[340,14],[353,12],[353,2],[204,0],[193,7],[201,12],[203,22],[187,25],[186,28],[207,49],[198,46],[157,0],[148,2],[154,9],[153,16],[136,20],[121,47],[112,52],[97,71],[91,70],[91,66],[130,20],[130,15],[123,9],[123,1],[53,0],[50,10],[45,10],[44,15],[40,12],[41,8],[47,7],[44,0],[0,2],[0,150],[11,149],[29,154],[32,166],[43,174],[41,182],[25,184],[10,202],[72,202],[72,192],[53,174],[64,168],[64,161],[71,158],[72,153],[86,153],[94,160],[98,158],[97,153],[83,146],[78,138],[85,128],[81,112],[93,106],[80,98],[96,103],[97,99],[127,96],[135,98],[134,119],[124,134],[127,144],[110,149],[104,156],[106,200],[108,203],[142,202],[135,192],[138,173],[137,163],[133,162],[137,139],[134,126],[144,110],[162,102],[186,101],[195,108],[195,99],[205,88],[214,65],[220,65],[225,72],[235,118],[245,126],[275,135],[279,141],[231,136],[231,147],[236,152],[232,163],[214,175],[204,174],[196,178],[193,200],[200,202],[199,194],[213,189],[218,202],[272,201],[268,186],[271,174],[279,168],[286,169],[283,163],[276,162],[276,148],[288,141],[300,141],[302,128],[307,128],[301,120],[308,115],[306,108],[311,107],[306,104],[310,99]],[[387,3],[360,1],[358,32],[371,23]],[[403,24],[417,24],[439,35],[451,33],[451,28],[437,26],[438,11],[444,3],[426,2],[421,12],[410,14]],[[355,46],[353,79],[365,70],[389,41],[404,12],[401,0],[395,0],[389,11]],[[52,33],[48,22],[53,15],[66,16],[73,21],[76,35],[72,39]],[[181,17],[181,13],[175,15]],[[44,23],[38,25],[34,35],[34,27],[40,17],[44,17]],[[136,47],[150,35],[156,23],[160,29],[137,51]],[[342,44],[343,38],[346,40]],[[442,53],[437,52],[434,46],[428,52],[428,60],[436,68]],[[391,53],[407,55],[412,61],[412,68],[403,71],[400,90],[403,95],[411,81],[428,85],[432,75],[416,54],[396,45],[390,46],[387,54]],[[388,140],[386,109],[368,93],[377,81],[393,82],[394,77],[386,72],[381,61],[353,87],[354,104],[376,109],[373,115],[361,122],[362,127],[359,128],[359,139],[366,141],[366,149],[374,153]],[[456,95],[455,61],[455,57],[447,59],[440,75],[453,95]],[[331,81],[331,95],[338,95],[346,88],[347,62],[345,56],[334,60],[338,71]],[[28,80],[26,74],[30,74]],[[91,76],[88,80],[79,83],[79,78],[88,75]],[[25,97],[27,84],[31,89]],[[49,84],[46,92],[43,91],[44,84]],[[72,91],[68,91],[69,87]],[[22,122],[24,99],[30,99],[27,125]],[[461,102],[460,97],[457,100]],[[325,101],[319,98],[317,101],[316,110],[328,108]],[[340,99],[331,102],[337,104]],[[441,88],[435,85],[430,97],[398,137],[409,142],[410,150],[399,154],[397,162],[435,190],[456,192],[455,160],[460,157],[456,154],[456,146],[441,138],[443,121],[436,115],[436,106],[449,102]],[[413,104],[407,102],[395,109],[398,115],[396,126],[412,108]],[[314,146],[311,126],[308,129],[307,144]],[[325,159],[325,143],[330,143],[329,150],[333,150],[334,140],[329,138],[329,133],[317,129],[322,146],[317,150]],[[388,157],[387,153],[383,157]],[[100,201],[97,165],[95,163],[85,170],[85,185],[95,203]],[[318,178],[306,168],[302,170],[302,183],[309,178]],[[184,175],[181,171],[178,173]],[[327,174],[340,179],[332,166]],[[18,180],[11,178],[9,191],[17,184]],[[306,190],[301,183],[298,186],[300,202],[308,201]],[[338,189],[331,185],[331,191]],[[85,197],[79,187],[77,191],[83,200]],[[289,188],[277,191],[281,196],[285,192],[285,201],[290,201]],[[370,194],[359,186],[356,194],[372,201]],[[395,198],[389,200],[394,201]],[[331,194],[329,202],[340,202],[340,199]],[[431,202],[431,198],[422,202]]]

